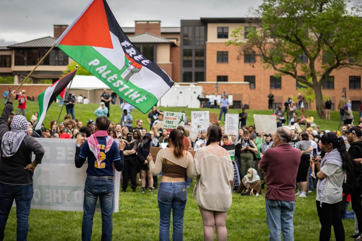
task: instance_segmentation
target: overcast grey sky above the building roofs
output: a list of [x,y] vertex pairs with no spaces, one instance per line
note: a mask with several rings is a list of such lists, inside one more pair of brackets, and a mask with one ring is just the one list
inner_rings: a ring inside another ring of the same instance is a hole
[[[180,26],[181,19],[245,17],[262,0],[108,0],[122,27],[135,20],[161,20],[162,27]],[[53,36],[53,24],[67,24],[89,0],[0,0],[0,46]]]

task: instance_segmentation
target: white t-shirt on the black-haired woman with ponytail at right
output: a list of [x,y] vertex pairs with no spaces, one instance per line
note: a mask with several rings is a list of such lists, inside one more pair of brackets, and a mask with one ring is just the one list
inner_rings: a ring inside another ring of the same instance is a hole
[[[342,201],[342,184],[344,180],[344,171],[342,167],[336,164],[324,164],[320,169],[325,175],[327,175],[327,180],[325,180],[322,195],[323,201],[320,199],[317,193],[317,201],[322,201],[324,203],[334,204]],[[318,180],[317,188],[319,186],[320,180]]]

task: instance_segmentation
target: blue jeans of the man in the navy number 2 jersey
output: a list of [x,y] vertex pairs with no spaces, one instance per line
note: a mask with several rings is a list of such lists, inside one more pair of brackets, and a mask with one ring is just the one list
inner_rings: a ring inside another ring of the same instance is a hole
[[99,197],[102,213],[102,241],[112,240],[113,179],[87,177],[84,185],[82,240],[92,237],[93,215]]

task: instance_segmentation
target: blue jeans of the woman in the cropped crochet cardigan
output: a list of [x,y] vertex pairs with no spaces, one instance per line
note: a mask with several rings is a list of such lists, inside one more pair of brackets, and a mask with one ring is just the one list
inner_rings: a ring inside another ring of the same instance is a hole
[[161,182],[157,193],[160,209],[160,241],[170,240],[172,209],[172,240],[182,240],[184,214],[187,201],[186,182]]

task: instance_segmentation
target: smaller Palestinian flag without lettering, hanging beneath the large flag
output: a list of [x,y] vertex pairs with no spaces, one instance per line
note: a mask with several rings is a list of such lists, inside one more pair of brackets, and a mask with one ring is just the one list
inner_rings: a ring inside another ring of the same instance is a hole
[[60,78],[38,96],[39,113],[38,124],[37,126],[35,126],[35,130],[39,130],[42,127],[45,114],[49,109],[51,103],[53,103],[55,99],[64,99],[64,95],[67,92],[67,86],[75,76],[76,72],[77,70],[74,70],[68,73],[66,76]]

